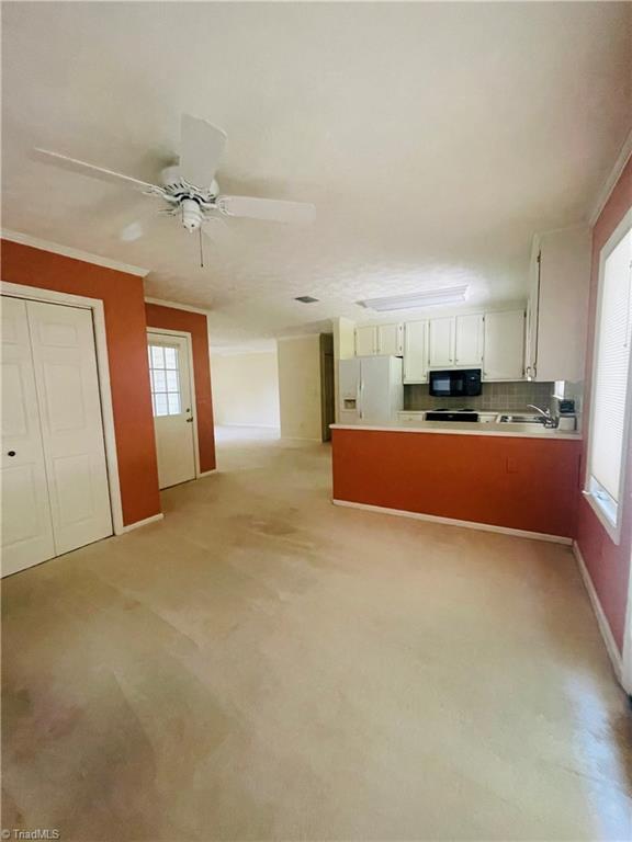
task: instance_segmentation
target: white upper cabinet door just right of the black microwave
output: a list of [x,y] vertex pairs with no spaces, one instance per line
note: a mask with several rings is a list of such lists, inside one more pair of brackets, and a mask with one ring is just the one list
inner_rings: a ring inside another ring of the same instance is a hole
[[483,379],[521,380],[524,376],[524,311],[485,314]]

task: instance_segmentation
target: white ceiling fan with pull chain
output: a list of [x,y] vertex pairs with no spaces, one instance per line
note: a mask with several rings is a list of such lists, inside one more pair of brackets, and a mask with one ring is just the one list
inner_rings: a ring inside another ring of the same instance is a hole
[[[252,196],[225,196],[219,192],[215,172],[219,164],[226,133],[205,120],[182,114],[180,125],[180,160],[174,167],[167,167],[160,173],[160,184],[150,184],[131,175],[113,172],[78,161],[66,155],[36,148],[37,159],[79,172],[100,181],[132,187],[145,195],[156,196],[166,203],[162,213],[179,217],[182,227],[193,234],[208,234],[206,225],[224,217],[247,217],[274,223],[309,223],[316,215],[314,205],[304,202],[285,202]],[[122,239],[135,240],[143,235],[137,221],[126,226]]]

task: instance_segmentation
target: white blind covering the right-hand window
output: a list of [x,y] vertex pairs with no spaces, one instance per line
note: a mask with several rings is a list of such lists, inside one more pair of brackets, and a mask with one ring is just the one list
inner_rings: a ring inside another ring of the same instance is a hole
[[631,333],[632,230],[629,230],[602,266],[592,374],[589,473],[591,485],[596,481],[598,491],[606,491],[611,498],[610,503],[616,505],[624,458]]

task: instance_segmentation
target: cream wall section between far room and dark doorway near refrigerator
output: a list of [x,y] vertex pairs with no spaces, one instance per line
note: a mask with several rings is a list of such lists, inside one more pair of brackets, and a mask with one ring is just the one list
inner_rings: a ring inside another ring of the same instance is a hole
[[281,437],[321,441],[319,337],[280,339],[276,353]]

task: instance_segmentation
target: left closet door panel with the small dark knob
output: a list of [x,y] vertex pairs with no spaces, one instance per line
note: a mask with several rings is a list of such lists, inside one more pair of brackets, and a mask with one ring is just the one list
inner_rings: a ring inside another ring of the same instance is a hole
[[26,304],[2,297],[2,574],[55,555]]

